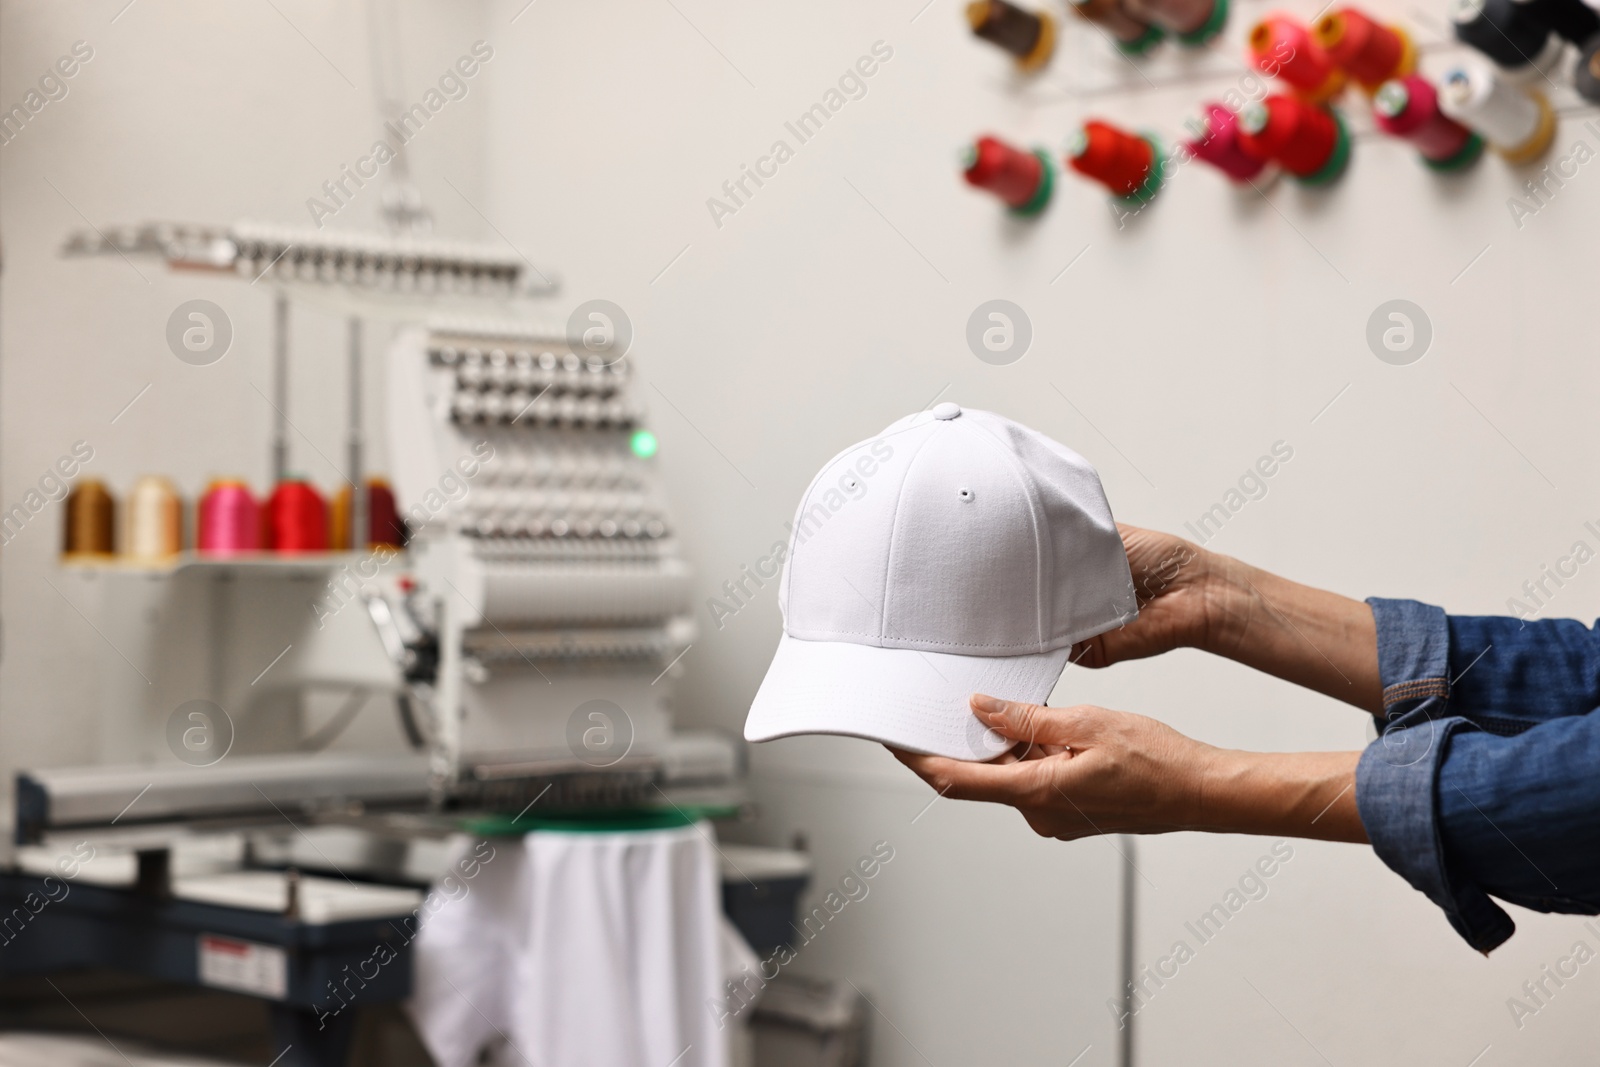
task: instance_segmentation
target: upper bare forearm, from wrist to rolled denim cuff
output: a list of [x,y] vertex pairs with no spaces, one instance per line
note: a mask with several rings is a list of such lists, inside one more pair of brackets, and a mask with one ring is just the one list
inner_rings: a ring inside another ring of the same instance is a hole
[[1371,608],[1224,555],[1206,561],[1200,648],[1365,712],[1382,710]]

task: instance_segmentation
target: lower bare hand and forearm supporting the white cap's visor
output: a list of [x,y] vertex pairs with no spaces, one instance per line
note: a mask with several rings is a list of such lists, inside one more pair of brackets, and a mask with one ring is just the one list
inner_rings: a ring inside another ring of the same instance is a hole
[[941,797],[1016,808],[1040,837],[1216,830],[1365,841],[1357,752],[1214,749],[1144,715],[973,696],[1018,745],[992,763],[891,749]]

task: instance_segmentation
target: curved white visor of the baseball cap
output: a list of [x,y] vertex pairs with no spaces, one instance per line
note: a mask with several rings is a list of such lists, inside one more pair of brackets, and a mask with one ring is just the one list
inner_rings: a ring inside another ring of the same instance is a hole
[[840,734],[952,760],[992,760],[1011,742],[978,721],[968,697],[1043,704],[1070,653],[950,656],[784,633],[744,739]]

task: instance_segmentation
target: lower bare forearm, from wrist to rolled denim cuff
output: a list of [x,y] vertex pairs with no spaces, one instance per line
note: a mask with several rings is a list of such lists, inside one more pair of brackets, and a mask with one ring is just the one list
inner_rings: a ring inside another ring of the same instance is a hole
[[1360,755],[1213,749],[1195,768],[1187,829],[1366,843],[1355,808]]

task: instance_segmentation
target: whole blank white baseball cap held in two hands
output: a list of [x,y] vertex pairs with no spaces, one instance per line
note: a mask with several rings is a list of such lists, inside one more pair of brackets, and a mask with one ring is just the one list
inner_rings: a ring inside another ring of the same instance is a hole
[[747,741],[845,734],[958,760],[1011,747],[973,717],[973,693],[1042,704],[1074,641],[1138,616],[1094,467],[954,403],[822,467],[778,606]]

